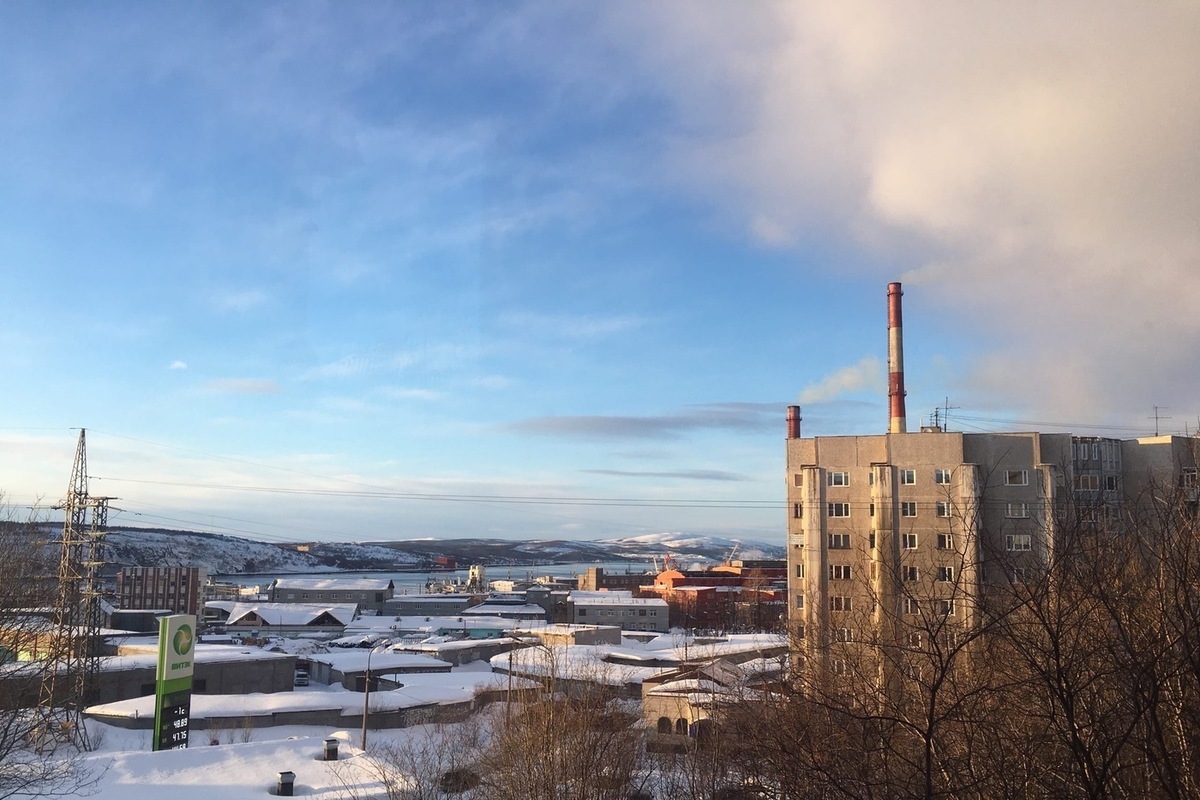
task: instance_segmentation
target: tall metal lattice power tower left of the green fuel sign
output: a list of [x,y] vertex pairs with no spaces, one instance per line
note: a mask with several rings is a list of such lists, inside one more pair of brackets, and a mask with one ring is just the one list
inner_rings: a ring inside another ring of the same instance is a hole
[[[88,494],[86,431],[79,431],[62,505],[62,548],[49,652],[37,699],[40,750],[72,744],[90,750],[83,711],[100,669],[101,582],[108,501]],[[90,512],[90,513],[89,513]]]

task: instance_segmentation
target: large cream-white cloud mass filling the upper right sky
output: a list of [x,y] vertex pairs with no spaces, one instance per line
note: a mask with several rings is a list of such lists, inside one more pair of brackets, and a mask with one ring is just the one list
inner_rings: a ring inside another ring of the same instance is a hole
[[694,11],[610,24],[710,132],[674,166],[750,237],[832,233],[881,281],[906,270],[1000,342],[1008,379],[977,391],[1060,413],[1200,393],[1200,6]]

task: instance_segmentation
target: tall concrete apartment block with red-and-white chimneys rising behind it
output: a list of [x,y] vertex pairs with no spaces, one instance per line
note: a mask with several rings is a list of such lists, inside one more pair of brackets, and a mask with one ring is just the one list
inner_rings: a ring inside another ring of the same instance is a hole
[[990,590],[1050,563],[1061,529],[1115,524],[1151,486],[1196,499],[1194,438],[907,433],[899,329],[892,284],[888,433],[805,439],[788,408],[788,619],[835,674],[850,643],[973,625]]

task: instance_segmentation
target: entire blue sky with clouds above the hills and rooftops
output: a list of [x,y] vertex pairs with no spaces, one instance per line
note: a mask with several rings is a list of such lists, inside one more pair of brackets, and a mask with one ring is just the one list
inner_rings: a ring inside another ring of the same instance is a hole
[[[0,491],[781,542],[785,408],[1200,427],[1194,2],[0,5]],[[1156,414],[1158,420],[1154,419]]]

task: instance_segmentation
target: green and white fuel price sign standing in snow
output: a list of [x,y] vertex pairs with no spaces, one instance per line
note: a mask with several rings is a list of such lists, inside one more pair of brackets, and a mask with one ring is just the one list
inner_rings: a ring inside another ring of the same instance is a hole
[[184,750],[192,711],[196,615],[158,620],[158,674],[155,682],[154,748]]

